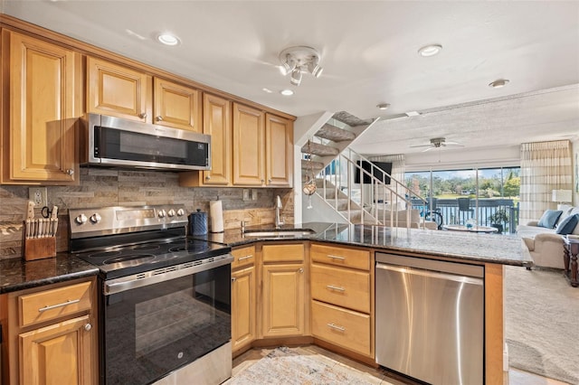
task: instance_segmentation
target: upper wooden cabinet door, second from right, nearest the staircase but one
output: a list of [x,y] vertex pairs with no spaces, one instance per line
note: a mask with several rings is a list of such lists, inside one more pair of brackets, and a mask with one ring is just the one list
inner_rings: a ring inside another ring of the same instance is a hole
[[265,117],[233,103],[233,184],[265,184]]

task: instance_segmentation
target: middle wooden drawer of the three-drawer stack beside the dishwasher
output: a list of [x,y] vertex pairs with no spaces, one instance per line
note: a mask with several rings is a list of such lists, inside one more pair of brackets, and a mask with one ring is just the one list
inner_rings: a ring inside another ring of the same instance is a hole
[[311,296],[333,305],[370,313],[370,274],[312,264]]

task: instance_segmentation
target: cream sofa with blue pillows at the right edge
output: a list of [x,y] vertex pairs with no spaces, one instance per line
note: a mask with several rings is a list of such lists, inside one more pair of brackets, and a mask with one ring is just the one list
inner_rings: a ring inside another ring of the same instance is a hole
[[[565,268],[563,261],[563,237],[557,234],[557,228],[564,223],[565,218],[579,214],[579,207],[568,207],[563,210],[555,221],[554,228],[539,226],[539,221],[529,221],[518,225],[517,235],[523,240],[537,267]],[[543,217],[542,217],[543,218]],[[568,234],[569,238],[579,239],[579,224]]]

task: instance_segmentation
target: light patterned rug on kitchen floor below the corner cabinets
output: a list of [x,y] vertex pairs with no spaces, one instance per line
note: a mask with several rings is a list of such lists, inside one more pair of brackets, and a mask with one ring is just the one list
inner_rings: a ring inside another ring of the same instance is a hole
[[299,353],[299,348],[281,346],[236,374],[227,385],[255,384],[377,384],[367,373],[347,368],[328,358]]

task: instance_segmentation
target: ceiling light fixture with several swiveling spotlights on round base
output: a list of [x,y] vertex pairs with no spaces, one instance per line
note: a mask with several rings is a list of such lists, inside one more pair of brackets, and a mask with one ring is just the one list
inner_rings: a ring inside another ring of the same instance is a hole
[[285,76],[291,73],[289,82],[294,86],[299,86],[303,73],[319,78],[324,70],[319,65],[319,53],[311,47],[299,45],[286,48],[280,53],[280,61],[281,74]]

